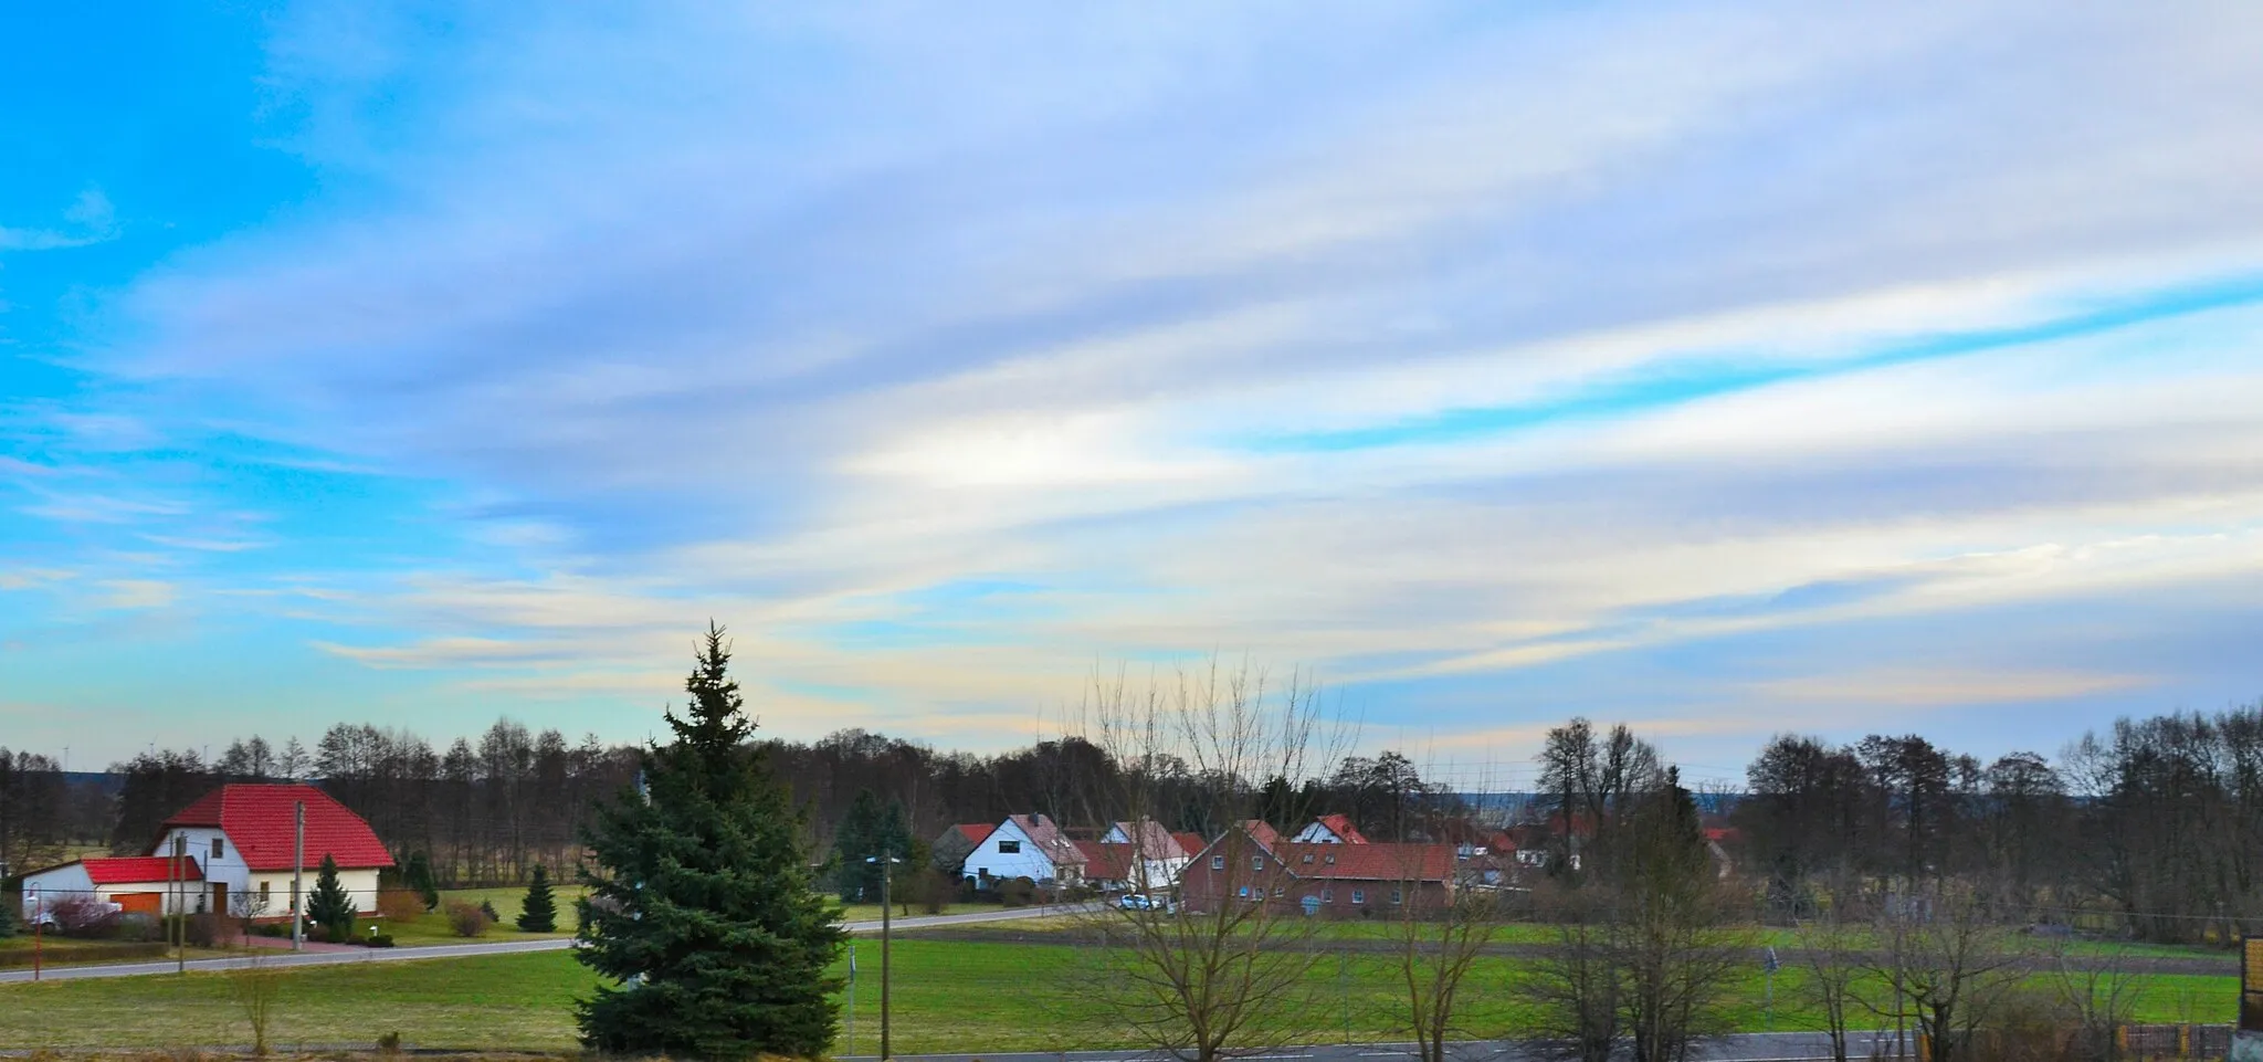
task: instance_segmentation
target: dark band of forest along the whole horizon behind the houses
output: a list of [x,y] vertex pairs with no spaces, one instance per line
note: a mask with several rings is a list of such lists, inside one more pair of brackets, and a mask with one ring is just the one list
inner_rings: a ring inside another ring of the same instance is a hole
[[[1120,808],[1084,806],[1091,779],[1172,763],[1125,765],[1066,738],[978,756],[844,729],[765,752],[808,808],[812,842],[831,847],[860,793],[901,804],[914,836],[950,822],[998,822],[1043,811],[1068,827],[1100,827]],[[1564,854],[1609,815],[1609,779],[1577,779],[1539,756],[1525,799],[1448,793],[1414,761],[1349,756],[1308,779],[1236,779],[1281,829],[1315,813],[1346,813],[1376,840],[1451,840],[1503,827],[1523,808],[1525,836]],[[634,783],[638,750],[593,736],[498,720],[446,747],[373,725],[330,727],[312,750],[251,736],[206,761],[154,750],[111,765],[104,781],[72,781],[52,756],[0,750],[0,863],[11,874],[77,847],[140,851],[158,822],[224,781],[310,779],[364,815],[401,858],[425,854],[448,883],[518,883],[536,863],[570,874],[595,802]],[[1573,777],[1573,783],[1561,779]],[[1161,786],[1168,793],[1168,779]],[[1193,788],[1193,783],[1190,783]],[[1831,897],[1944,881],[1980,883],[2003,903],[2059,917],[2107,917],[2145,940],[2229,940],[2263,928],[2263,704],[2220,713],[2125,718],[2082,734],[2059,756],[1955,754],[1924,736],[1867,736],[1838,745],[1786,734],[1747,768],[1743,793],[1706,815],[1761,913],[1801,917]],[[1177,831],[1222,829],[1161,804]]]

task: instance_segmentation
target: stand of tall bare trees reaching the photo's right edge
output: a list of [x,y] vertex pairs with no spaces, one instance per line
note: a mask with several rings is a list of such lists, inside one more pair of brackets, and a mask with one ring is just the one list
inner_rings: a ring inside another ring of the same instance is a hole
[[2263,702],[2123,718],[2057,761],[1786,734],[1752,761],[1733,822],[1783,917],[1962,883],[2007,919],[2236,940],[2263,928]]

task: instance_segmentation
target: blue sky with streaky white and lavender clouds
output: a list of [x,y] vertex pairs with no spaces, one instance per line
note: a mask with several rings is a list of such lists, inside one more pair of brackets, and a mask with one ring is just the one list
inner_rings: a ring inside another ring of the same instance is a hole
[[0,745],[2263,695],[2263,7],[0,14]]

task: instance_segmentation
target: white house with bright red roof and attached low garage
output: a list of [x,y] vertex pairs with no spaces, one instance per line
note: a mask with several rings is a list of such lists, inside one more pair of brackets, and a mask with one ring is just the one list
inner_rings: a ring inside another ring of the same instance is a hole
[[[149,856],[81,858],[25,874],[32,890],[52,906],[66,894],[93,894],[124,910],[217,910],[253,917],[285,917],[292,901],[292,851],[296,808],[306,806],[306,890],[315,890],[321,858],[337,860],[337,883],[355,910],[378,910],[378,872],[394,856],[344,804],[301,783],[231,783],[206,793],[165,820]],[[188,858],[188,885],[172,885],[170,856],[177,840]]]

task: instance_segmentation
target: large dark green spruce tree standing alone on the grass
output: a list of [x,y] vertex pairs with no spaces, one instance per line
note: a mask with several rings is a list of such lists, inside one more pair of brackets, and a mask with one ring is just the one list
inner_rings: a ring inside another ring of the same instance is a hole
[[754,745],[724,632],[708,625],[674,740],[645,793],[597,811],[575,958],[613,985],[579,1005],[606,1053],[815,1057],[833,1044],[840,908],[817,892],[803,820]]

